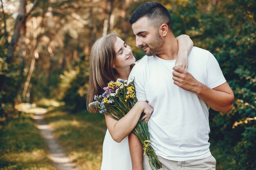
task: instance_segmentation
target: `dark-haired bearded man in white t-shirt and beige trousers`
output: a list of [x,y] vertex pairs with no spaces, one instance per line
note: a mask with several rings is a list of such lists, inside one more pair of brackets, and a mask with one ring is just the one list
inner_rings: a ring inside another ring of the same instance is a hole
[[[138,100],[154,108],[148,128],[162,169],[215,170],[208,142],[209,107],[227,113],[234,101],[218,62],[209,51],[193,47],[188,70],[174,66],[178,44],[171,15],[157,2],[141,5],[129,22],[136,46],[148,55],[130,76],[135,77]],[[147,156],[143,166],[151,170]]]

